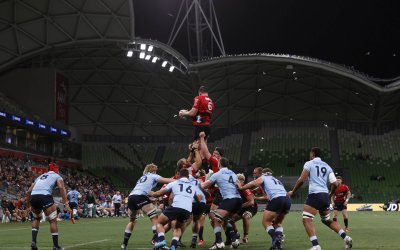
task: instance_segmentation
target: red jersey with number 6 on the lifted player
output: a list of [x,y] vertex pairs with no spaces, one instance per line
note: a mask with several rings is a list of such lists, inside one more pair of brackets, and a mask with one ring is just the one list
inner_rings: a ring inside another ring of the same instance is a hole
[[214,103],[211,98],[204,95],[196,96],[193,101],[193,108],[197,109],[197,114],[193,117],[193,125],[209,126],[214,111]]

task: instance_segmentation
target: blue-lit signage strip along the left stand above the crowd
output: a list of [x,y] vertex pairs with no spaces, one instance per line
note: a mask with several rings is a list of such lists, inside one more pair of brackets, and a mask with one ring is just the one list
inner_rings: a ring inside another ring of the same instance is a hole
[[68,130],[59,129],[59,128],[44,124],[42,122],[33,121],[28,118],[24,118],[24,117],[10,114],[7,112],[0,111],[0,118],[6,119],[9,121],[18,123],[18,124],[22,124],[26,127],[32,127],[32,128],[40,129],[42,131],[47,131],[47,132],[50,132],[51,134],[60,135],[62,137],[70,137],[71,136],[71,133]]

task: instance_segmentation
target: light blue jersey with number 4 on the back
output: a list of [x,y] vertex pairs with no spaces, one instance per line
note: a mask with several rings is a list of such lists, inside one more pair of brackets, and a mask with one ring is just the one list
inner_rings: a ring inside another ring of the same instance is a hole
[[210,181],[219,187],[223,199],[241,198],[236,188],[237,176],[227,168],[221,168],[210,177]]

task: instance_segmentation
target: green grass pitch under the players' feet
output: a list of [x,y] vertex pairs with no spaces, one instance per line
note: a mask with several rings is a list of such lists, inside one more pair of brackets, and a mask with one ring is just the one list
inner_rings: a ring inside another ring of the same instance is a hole
[[[250,242],[239,249],[269,249],[271,239],[261,226],[261,213],[252,219]],[[71,222],[60,222],[60,245],[66,249],[119,249],[127,218],[82,219],[73,225]],[[350,235],[353,238],[353,249],[387,249],[400,250],[400,213],[388,212],[353,212],[349,214]],[[342,224],[342,218],[339,217]],[[343,240],[320,220],[314,220],[317,236],[322,249],[344,249]],[[241,224],[238,224],[240,231]],[[152,249],[150,245],[151,226],[147,218],[140,218],[129,241],[128,249]],[[288,215],[284,224],[284,249],[309,249],[310,242],[301,222],[301,213]],[[204,231],[205,246],[208,249],[214,241],[209,223]],[[0,224],[0,249],[30,249],[31,230],[29,223]],[[170,243],[171,234],[166,236]],[[183,237],[187,246],[191,240],[191,229]],[[48,223],[42,223],[38,236],[39,249],[51,249],[52,241]],[[187,247],[187,249],[190,249]],[[201,249],[197,247],[197,249]]]

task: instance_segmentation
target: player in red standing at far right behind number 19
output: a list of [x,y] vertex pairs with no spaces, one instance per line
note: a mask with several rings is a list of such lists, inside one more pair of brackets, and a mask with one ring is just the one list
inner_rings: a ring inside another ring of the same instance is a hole
[[351,197],[351,192],[346,184],[343,184],[341,176],[336,176],[339,186],[335,191],[335,195],[332,196],[333,204],[333,220],[337,221],[338,211],[342,212],[344,226],[346,227],[346,232],[349,231],[349,217],[347,216],[347,203]]

